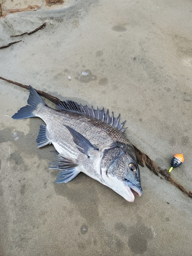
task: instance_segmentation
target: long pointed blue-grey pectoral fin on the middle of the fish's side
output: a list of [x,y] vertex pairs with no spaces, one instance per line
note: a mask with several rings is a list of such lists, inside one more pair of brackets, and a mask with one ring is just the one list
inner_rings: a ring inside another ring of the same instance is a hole
[[70,131],[71,135],[73,136],[73,141],[75,142],[78,150],[90,157],[89,151],[90,150],[97,150],[98,148],[95,147],[88,139],[86,139],[84,136],[82,136],[80,133],[72,129],[71,127],[65,125],[67,129]]

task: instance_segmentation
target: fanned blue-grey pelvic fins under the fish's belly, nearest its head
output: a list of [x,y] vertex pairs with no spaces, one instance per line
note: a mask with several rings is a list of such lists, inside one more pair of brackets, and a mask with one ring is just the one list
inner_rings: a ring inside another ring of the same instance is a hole
[[74,179],[79,173],[78,164],[72,159],[67,159],[62,155],[55,157],[54,162],[50,163],[50,169],[59,169],[61,172],[57,176],[56,183],[67,183]]

